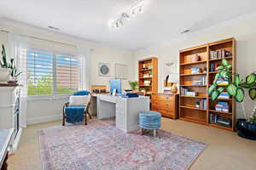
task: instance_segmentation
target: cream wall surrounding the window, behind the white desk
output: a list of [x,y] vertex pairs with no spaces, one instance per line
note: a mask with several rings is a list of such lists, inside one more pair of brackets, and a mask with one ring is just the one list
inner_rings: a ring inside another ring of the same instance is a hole
[[[27,36],[41,37],[44,39],[65,42],[73,45],[79,44],[80,47],[88,49],[89,56],[89,88],[90,85],[108,85],[110,78],[114,78],[114,65],[115,63],[128,65],[129,69],[129,80],[134,80],[134,59],[131,52],[119,50],[116,48],[106,47],[96,42],[85,41],[77,37],[70,37],[67,35],[61,35],[52,31],[46,31],[38,29],[32,26],[25,26],[20,23],[9,23],[6,21],[1,22],[0,28],[4,30],[19,33]],[[8,49],[6,33],[0,32],[0,42],[4,43]],[[8,50],[7,50],[8,51]],[[99,77],[98,76],[98,63],[107,62],[110,63],[110,77]],[[122,88],[129,88],[127,81],[123,81]],[[27,104],[27,122],[28,124],[36,122],[47,122],[50,120],[61,119],[61,108],[67,99],[41,99],[41,100],[29,100]]]

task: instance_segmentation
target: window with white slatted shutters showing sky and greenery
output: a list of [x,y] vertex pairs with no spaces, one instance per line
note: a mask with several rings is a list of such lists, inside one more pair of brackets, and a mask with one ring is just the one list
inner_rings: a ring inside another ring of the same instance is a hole
[[77,57],[28,50],[27,94],[73,94],[79,90],[81,61]]

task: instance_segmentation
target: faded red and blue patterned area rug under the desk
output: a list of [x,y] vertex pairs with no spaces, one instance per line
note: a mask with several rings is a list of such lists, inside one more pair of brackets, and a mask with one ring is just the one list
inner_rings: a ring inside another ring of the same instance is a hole
[[124,133],[113,120],[88,126],[50,127],[39,131],[44,170],[187,170],[206,148],[163,130],[159,138],[140,131]]

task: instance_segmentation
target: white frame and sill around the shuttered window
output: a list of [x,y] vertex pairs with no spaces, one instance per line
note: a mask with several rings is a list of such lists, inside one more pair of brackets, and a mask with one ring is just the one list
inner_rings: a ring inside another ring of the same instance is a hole
[[[57,85],[57,65],[56,65],[56,56],[57,55],[62,55],[62,56],[67,56],[71,59],[75,58],[75,59],[78,59],[79,61],[79,87],[78,87],[78,90],[81,89],[82,87],[82,84],[83,84],[83,76],[82,76],[82,70],[83,70],[83,59],[82,57],[79,57],[77,55],[74,55],[74,54],[59,54],[59,53],[54,53],[54,52],[50,52],[48,50],[44,50],[44,49],[38,49],[38,48],[27,48],[26,49],[26,63],[27,63],[27,51],[38,51],[38,52],[41,52],[41,53],[49,53],[49,54],[52,54],[52,92],[51,94],[34,94],[34,95],[29,95],[27,93],[27,100],[28,101],[32,101],[32,100],[41,100],[41,99],[46,99],[46,100],[53,100],[53,99],[66,99],[68,98],[72,93],[70,94],[57,94],[57,89],[56,89],[56,85]],[[27,64],[26,64],[26,67],[27,67]],[[28,73],[27,69],[26,69],[26,74]],[[27,78],[26,78],[26,82],[27,82]],[[26,91],[28,92],[28,86],[26,88]]]

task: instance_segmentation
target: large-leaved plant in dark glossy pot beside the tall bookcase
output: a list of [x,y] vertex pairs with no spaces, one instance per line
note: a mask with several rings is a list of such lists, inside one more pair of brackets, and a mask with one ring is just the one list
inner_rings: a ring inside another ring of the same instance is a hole
[[[256,107],[254,106],[253,115],[247,116],[247,112],[243,105],[245,89],[248,90],[250,99],[256,99],[256,71],[249,74],[246,77],[245,82],[243,82],[239,74],[231,73],[231,67],[232,65],[230,65],[226,59],[222,59],[222,65],[219,65],[215,69],[219,72],[216,74],[212,86],[208,89],[208,93],[212,97],[212,100],[215,101],[218,99],[218,95],[226,90],[230,96],[236,99],[237,102],[241,103],[245,119],[238,119],[236,122],[238,135],[247,139],[256,139]],[[232,80],[233,75],[235,77],[234,80]],[[228,80],[228,86],[219,87],[217,83],[219,78]]]

